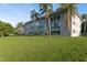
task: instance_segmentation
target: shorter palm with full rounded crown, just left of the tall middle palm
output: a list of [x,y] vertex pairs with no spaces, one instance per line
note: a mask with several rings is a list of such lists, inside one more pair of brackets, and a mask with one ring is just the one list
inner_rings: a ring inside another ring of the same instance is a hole
[[31,11],[31,19],[34,21],[34,25],[35,25],[35,34],[37,34],[37,26],[36,26],[36,21],[37,19],[40,18],[40,14],[35,11],[35,10],[32,10]]

